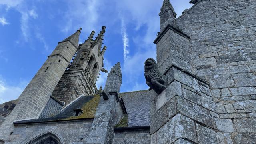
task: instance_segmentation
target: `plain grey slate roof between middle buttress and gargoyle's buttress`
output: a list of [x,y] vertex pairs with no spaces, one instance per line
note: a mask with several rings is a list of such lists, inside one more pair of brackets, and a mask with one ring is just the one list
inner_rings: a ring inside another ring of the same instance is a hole
[[148,90],[119,93],[124,100],[128,119],[124,117],[117,127],[150,126],[150,94]]

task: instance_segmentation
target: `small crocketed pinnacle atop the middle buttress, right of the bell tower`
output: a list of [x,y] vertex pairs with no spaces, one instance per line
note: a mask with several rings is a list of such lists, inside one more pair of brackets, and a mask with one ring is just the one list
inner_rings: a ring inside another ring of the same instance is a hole
[[113,68],[111,68],[108,78],[106,81],[106,85],[104,90],[108,92],[119,92],[122,84],[122,73],[120,62],[116,63]]

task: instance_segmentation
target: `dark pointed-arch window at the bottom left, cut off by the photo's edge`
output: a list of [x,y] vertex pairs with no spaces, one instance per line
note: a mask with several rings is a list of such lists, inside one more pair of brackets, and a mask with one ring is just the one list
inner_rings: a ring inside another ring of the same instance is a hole
[[49,132],[30,140],[27,144],[61,144],[61,142],[57,136]]

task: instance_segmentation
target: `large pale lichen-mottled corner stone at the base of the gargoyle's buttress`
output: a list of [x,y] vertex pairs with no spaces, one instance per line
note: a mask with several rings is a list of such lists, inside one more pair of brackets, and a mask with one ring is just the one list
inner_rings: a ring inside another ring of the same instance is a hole
[[157,144],[166,144],[184,138],[197,142],[193,120],[177,114],[157,132]]

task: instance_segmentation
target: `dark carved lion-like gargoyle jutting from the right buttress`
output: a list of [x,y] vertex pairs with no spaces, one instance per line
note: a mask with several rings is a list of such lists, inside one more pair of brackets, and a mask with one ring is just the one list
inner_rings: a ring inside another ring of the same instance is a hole
[[166,88],[164,76],[160,74],[156,61],[148,58],[145,61],[145,78],[146,84],[152,88],[157,94],[160,94]]

